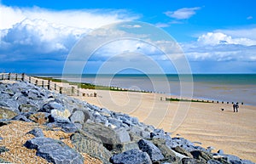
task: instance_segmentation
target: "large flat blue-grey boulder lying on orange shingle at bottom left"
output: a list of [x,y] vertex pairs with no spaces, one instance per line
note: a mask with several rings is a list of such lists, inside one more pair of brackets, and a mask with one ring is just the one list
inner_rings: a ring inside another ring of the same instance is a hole
[[83,164],[84,158],[76,150],[68,147],[60,140],[49,138],[34,138],[24,144],[28,149],[37,150],[36,155],[56,163]]

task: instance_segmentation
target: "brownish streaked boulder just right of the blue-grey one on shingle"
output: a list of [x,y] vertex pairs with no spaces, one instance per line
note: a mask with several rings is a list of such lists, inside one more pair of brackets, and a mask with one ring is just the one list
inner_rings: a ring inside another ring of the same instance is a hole
[[89,133],[79,131],[79,133],[74,133],[70,139],[76,150],[99,158],[104,163],[108,163],[109,158],[112,156],[110,151],[103,146],[102,140]]

